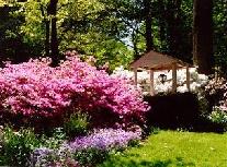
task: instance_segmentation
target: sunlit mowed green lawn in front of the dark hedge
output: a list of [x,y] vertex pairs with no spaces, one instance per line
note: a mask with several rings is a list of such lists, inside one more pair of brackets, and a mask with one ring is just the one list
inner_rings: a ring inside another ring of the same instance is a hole
[[227,167],[227,133],[160,131],[99,167]]

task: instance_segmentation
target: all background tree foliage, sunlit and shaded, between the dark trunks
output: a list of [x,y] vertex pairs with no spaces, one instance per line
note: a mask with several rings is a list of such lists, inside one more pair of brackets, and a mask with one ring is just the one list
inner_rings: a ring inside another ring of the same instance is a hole
[[[0,1],[0,55],[24,61],[45,55],[49,0]],[[127,65],[145,52],[144,0],[59,0],[57,29],[60,52],[73,49],[93,55],[111,70]],[[9,11],[1,11],[9,8]],[[214,1],[214,56],[218,71],[226,74],[226,1]],[[1,16],[2,15],[2,16]],[[193,1],[151,1],[154,49],[192,61]]]

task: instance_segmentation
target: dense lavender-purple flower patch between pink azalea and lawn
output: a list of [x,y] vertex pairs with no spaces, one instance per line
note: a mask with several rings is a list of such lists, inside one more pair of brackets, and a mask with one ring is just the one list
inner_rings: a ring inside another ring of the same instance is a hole
[[139,140],[139,132],[126,132],[122,129],[101,129],[94,131],[88,136],[77,138],[68,143],[72,151],[81,151],[87,148],[112,150],[126,147],[130,141]]

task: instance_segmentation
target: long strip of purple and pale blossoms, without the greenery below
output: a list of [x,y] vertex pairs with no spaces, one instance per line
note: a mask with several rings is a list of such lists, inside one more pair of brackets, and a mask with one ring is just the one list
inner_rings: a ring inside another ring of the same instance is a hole
[[[77,159],[73,159],[73,154],[80,151],[98,150],[110,152],[115,148],[125,148],[130,141],[140,140],[140,132],[124,131],[122,129],[101,129],[95,130],[93,133],[87,136],[76,138],[72,142],[65,142],[57,150],[50,150],[46,147],[36,148],[32,154],[33,166],[49,166],[54,162],[70,162],[77,164]],[[102,155],[100,155],[102,156]]]

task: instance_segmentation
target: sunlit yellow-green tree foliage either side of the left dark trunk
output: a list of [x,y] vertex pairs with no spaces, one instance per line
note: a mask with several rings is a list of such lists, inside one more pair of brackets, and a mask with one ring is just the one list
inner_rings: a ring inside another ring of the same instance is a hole
[[[47,0],[30,0],[23,5],[25,22],[21,26],[23,39],[30,47],[44,53],[47,15]],[[111,69],[132,61],[133,52],[117,38],[122,25],[98,0],[60,0],[57,11],[57,28],[60,52],[73,49],[93,55],[99,64],[110,62]],[[117,31],[112,31],[113,28]]]

